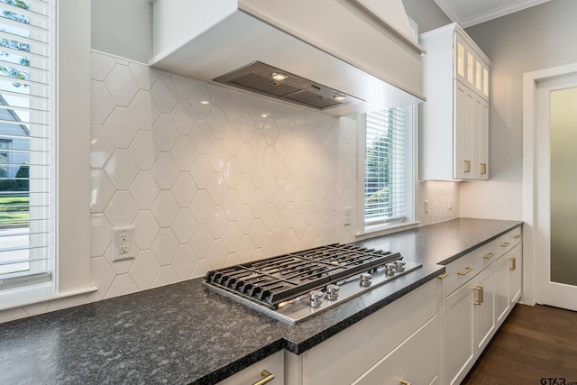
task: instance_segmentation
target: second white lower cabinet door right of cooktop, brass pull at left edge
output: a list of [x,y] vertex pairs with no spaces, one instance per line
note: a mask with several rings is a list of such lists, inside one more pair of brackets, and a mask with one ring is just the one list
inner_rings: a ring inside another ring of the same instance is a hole
[[475,349],[481,352],[495,329],[495,271],[488,268],[472,280]]

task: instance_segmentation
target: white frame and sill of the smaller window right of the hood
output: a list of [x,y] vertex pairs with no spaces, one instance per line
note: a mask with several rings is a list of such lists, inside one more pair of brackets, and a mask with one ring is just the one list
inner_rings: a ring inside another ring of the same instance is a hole
[[357,152],[357,207],[356,207],[356,221],[355,221],[355,235],[363,237],[363,235],[380,235],[389,234],[399,230],[416,227],[418,221],[416,219],[415,202],[417,199],[417,164],[418,164],[418,105],[408,105],[408,116],[410,116],[410,139],[407,144],[408,159],[410,165],[408,166],[410,176],[409,191],[407,198],[407,215],[404,220],[385,221],[383,223],[376,223],[367,225],[365,223],[365,161],[366,161],[366,114],[357,115],[358,125],[358,152]]

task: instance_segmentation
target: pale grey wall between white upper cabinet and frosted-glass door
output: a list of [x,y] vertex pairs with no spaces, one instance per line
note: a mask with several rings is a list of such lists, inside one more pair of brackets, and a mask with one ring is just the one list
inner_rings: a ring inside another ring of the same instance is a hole
[[577,2],[553,0],[466,30],[490,60],[490,181],[461,184],[461,215],[521,219],[523,73],[577,62]]

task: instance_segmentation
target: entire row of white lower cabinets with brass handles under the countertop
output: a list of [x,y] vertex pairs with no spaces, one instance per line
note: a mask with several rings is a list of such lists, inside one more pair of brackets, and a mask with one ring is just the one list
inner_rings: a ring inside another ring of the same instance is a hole
[[[221,385],[459,384],[521,296],[521,228],[446,266],[302,354],[279,352]],[[264,370],[264,371],[263,371]]]

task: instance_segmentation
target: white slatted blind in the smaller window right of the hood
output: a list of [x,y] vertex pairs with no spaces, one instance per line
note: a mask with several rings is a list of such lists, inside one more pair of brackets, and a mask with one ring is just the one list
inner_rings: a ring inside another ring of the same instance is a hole
[[412,106],[366,115],[365,226],[412,219]]

